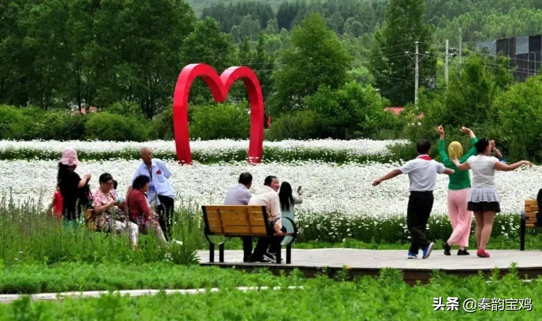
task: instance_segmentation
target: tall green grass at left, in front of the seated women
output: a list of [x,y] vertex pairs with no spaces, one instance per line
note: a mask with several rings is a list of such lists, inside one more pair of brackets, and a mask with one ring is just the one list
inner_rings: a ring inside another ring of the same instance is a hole
[[169,248],[156,238],[139,235],[139,248],[131,250],[127,233],[101,233],[89,230],[83,222],[66,225],[49,218],[39,204],[15,205],[0,201],[0,260],[10,266],[22,263],[55,264],[122,262],[141,264],[170,260],[178,264],[196,263],[196,249],[203,247],[202,219],[192,205],[175,212],[173,239]]

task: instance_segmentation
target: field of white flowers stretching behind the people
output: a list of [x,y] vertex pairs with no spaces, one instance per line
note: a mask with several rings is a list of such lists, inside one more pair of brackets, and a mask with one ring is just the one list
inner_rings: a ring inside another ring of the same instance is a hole
[[[265,142],[264,148],[275,146],[279,148],[329,148],[350,149],[356,153],[386,153],[390,143],[402,141],[283,141],[279,143]],[[173,142],[154,141],[146,143],[115,143],[115,142],[13,142],[0,141],[0,152],[5,148],[34,148],[57,150],[74,147],[76,150],[110,150],[139,148],[150,146],[153,149],[175,150]],[[246,148],[245,141],[195,141],[192,149],[208,149],[209,153],[220,153],[227,148]],[[98,177],[104,172],[111,173],[119,182],[119,192],[124,194],[135,168],[140,160],[104,160],[82,161],[76,172],[80,175],[92,174],[91,188],[98,188]],[[171,172],[170,179],[177,193],[177,204],[191,202],[199,205],[220,204],[228,188],[235,185],[238,175],[248,171],[253,174],[253,191],[263,183],[267,175],[276,175],[280,181],[288,181],[293,188],[301,185],[305,191],[305,201],[299,206],[299,211],[309,213],[337,212],[342,215],[402,215],[406,213],[408,202],[408,178],[401,175],[398,178],[385,181],[377,187],[371,182],[399,166],[398,163],[345,163],[336,165],[325,162],[270,162],[251,166],[244,162],[215,163],[192,166],[180,166],[175,161],[166,161]],[[47,206],[53,194],[56,183],[57,161],[53,160],[9,160],[0,161],[0,191],[6,196],[11,195],[15,202],[28,200],[37,201],[42,197],[42,206]],[[496,185],[501,196],[501,210],[504,214],[518,214],[524,199],[534,198],[540,185],[542,168],[521,168],[514,172],[498,172],[495,177]],[[447,213],[447,184],[446,175],[440,175],[435,188],[434,214]],[[296,207],[298,210],[298,207]]]

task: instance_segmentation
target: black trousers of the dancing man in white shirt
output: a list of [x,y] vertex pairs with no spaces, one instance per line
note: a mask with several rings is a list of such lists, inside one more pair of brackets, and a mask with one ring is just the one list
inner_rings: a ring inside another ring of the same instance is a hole
[[414,254],[418,253],[419,248],[423,249],[430,243],[425,237],[425,227],[432,208],[433,191],[410,192],[408,208],[406,209],[406,227],[408,227],[412,239],[409,251]]

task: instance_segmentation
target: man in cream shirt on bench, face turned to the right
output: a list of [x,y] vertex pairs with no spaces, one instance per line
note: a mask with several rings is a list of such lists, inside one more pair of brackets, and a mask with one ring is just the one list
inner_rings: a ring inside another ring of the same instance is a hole
[[[269,222],[275,222],[273,228],[276,233],[286,232],[286,228],[282,227],[280,199],[279,194],[277,193],[279,187],[280,183],[276,176],[267,176],[263,182],[263,186],[258,188],[256,193],[254,193],[254,196],[248,201],[248,205],[264,205],[267,207]],[[283,239],[283,236],[259,238],[250,261],[272,261],[273,263],[276,263],[276,253],[280,251],[280,243]]]

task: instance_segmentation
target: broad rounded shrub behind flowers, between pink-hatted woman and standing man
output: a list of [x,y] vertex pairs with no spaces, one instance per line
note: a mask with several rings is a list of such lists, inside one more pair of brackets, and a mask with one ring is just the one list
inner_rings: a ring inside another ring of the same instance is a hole
[[86,123],[87,139],[112,141],[146,141],[149,139],[149,122],[134,116],[99,113]]

